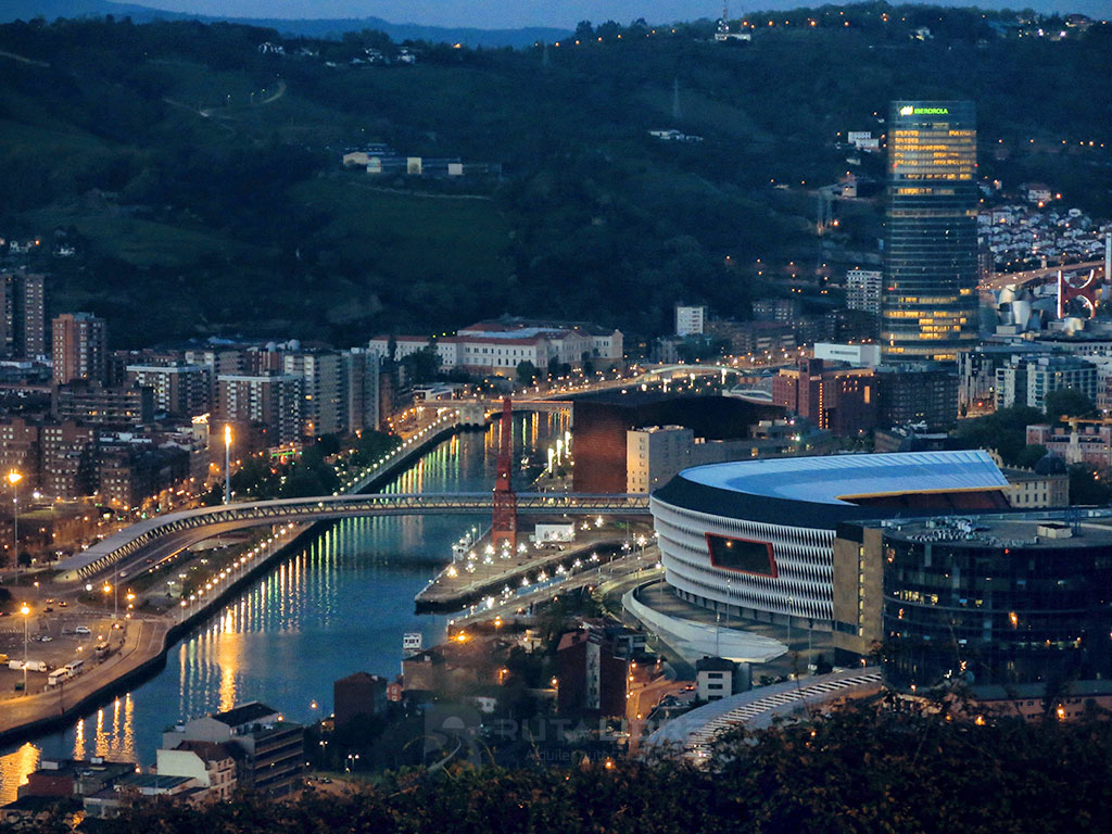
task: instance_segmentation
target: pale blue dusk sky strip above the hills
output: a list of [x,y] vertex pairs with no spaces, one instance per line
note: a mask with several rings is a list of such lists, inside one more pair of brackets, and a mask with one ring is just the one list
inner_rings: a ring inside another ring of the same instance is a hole
[[[524,26],[574,27],[579,20],[607,19],[628,23],[645,18],[651,23],[716,18],[716,0],[130,0],[170,11],[244,18],[363,18],[379,17],[393,23],[474,26],[484,29]],[[754,9],[794,9],[821,6],[821,0],[759,0],[732,2],[731,17]],[[934,0],[940,6],[972,6],[970,0]],[[1112,0],[981,0],[982,8],[1034,8],[1040,11],[1080,11],[1106,16]]]

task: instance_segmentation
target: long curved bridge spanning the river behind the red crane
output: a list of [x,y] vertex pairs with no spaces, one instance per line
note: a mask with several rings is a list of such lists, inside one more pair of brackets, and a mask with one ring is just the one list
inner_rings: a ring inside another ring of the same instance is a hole
[[[62,582],[79,582],[140,552],[171,546],[177,553],[218,533],[291,522],[351,516],[480,515],[494,509],[494,493],[340,495],[245,502],[169,513],[133,524],[58,564]],[[648,515],[647,495],[524,493],[518,516]],[[168,555],[166,553],[161,556]]]

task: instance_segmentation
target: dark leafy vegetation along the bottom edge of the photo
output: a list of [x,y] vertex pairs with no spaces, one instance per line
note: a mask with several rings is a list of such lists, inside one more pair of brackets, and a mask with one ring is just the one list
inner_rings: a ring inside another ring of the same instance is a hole
[[[140,803],[97,831],[1054,834],[1112,823],[1108,722],[979,725],[854,706],[721,747],[704,770],[610,759],[570,770],[449,767],[350,794],[309,788],[289,802]],[[39,828],[63,830],[60,820]]]

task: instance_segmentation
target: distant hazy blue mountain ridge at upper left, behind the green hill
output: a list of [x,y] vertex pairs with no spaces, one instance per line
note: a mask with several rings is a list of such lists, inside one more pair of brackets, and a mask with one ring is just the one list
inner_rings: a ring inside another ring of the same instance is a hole
[[335,18],[286,20],[282,18],[215,18],[205,14],[162,11],[148,6],[116,3],[110,0],[7,0],[0,3],[0,23],[13,20],[30,20],[42,17],[57,18],[99,17],[112,14],[131,18],[137,23],[151,20],[218,20],[244,26],[276,29],[282,34],[308,38],[338,38],[344,32],[377,29],[393,40],[427,40],[433,42],[464,43],[469,47],[527,47],[537,41],[555,41],[566,38],[566,29],[527,27],[524,29],[470,29],[456,27],[419,26],[417,23],[391,23],[381,18]]

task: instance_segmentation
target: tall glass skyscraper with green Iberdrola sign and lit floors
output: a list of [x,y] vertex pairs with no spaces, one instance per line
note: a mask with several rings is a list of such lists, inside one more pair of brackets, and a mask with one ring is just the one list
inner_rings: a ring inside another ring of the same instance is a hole
[[882,350],[953,361],[977,338],[975,107],[893,101],[887,145]]

